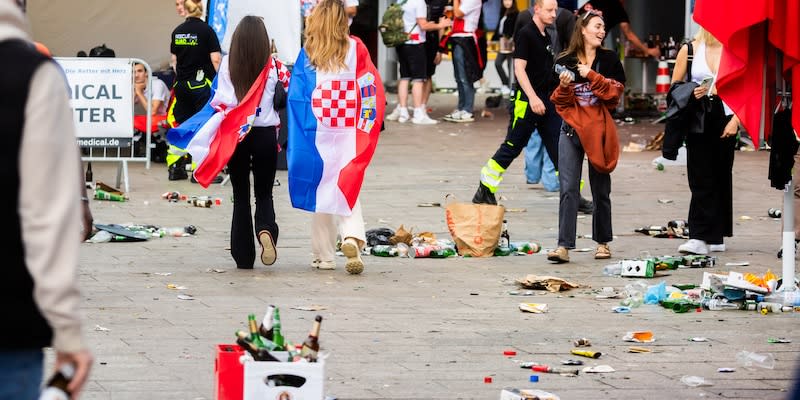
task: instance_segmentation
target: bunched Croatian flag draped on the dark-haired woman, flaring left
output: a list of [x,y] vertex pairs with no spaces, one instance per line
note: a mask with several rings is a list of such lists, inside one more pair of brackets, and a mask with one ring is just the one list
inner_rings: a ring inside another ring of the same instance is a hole
[[232,85],[218,85],[203,109],[167,133],[170,144],[185,145],[186,151],[192,155],[192,162],[197,164],[194,178],[203,187],[207,188],[225,168],[236,145],[250,133],[253,121],[261,112],[259,105],[272,68],[272,58],[269,60],[238,104],[231,107],[216,101],[218,98],[236,98]]

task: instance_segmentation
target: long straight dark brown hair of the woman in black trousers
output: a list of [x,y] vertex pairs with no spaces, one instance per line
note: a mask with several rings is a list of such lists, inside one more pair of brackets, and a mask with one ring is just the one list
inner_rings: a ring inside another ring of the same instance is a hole
[[264,21],[252,15],[242,18],[233,32],[228,52],[228,70],[239,101],[253,86],[269,56],[269,34]]

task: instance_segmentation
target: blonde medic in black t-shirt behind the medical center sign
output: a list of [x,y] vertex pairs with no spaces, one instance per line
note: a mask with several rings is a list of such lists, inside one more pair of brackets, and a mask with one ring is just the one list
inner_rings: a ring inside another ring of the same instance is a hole
[[[211,96],[211,81],[217,75],[222,59],[217,34],[200,18],[200,0],[183,2],[186,21],[172,31],[170,53],[175,66],[175,101],[168,110],[167,120],[174,127],[200,111]],[[178,3],[176,3],[177,9]],[[169,179],[186,179],[185,151],[170,147],[167,154]]]

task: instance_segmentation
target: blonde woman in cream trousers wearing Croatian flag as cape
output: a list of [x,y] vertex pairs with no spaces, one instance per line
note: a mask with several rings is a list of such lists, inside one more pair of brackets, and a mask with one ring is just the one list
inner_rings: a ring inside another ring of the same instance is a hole
[[323,0],[308,17],[305,47],[289,85],[289,194],[312,216],[312,266],[334,269],[336,234],[345,268],[364,269],[366,241],[359,192],[383,124],[385,95],[360,40],[349,37],[340,0]]

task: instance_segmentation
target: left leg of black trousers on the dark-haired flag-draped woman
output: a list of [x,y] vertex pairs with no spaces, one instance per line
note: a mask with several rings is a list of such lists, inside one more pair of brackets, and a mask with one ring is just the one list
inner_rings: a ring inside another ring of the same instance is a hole
[[236,146],[228,172],[233,188],[233,218],[231,219],[231,256],[236,267],[253,268],[256,258],[253,243],[253,218],[250,214],[250,162],[253,135],[247,135]]

